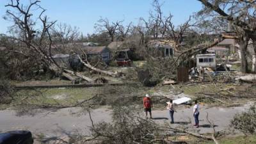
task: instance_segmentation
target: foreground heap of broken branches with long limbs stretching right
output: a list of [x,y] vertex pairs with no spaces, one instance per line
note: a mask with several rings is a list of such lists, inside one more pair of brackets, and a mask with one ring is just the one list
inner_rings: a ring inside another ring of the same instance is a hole
[[212,140],[215,143],[218,143],[214,133],[212,134],[212,137],[209,137],[186,131],[186,129],[173,128],[169,124],[166,124],[163,127],[152,120],[143,118],[141,112],[140,109],[133,106],[117,106],[113,108],[113,122],[94,124],[91,112],[88,110],[88,115],[92,122],[92,127],[90,127],[92,136],[71,136],[70,141],[72,141],[72,143],[97,144],[187,143],[186,141],[173,141],[170,140],[169,137],[175,136],[175,134],[188,134],[195,138]]

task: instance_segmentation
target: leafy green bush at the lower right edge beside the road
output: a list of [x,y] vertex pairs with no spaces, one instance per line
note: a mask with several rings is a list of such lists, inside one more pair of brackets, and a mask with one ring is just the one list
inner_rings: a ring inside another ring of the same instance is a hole
[[247,111],[241,114],[236,114],[231,120],[231,127],[243,132],[244,134],[254,134],[256,132],[256,107],[255,104]]

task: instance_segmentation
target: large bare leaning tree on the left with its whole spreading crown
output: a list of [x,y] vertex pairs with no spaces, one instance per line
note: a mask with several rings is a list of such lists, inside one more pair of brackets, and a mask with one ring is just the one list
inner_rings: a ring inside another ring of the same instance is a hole
[[[20,4],[19,0],[13,1],[6,5],[7,8],[11,10],[6,11],[6,16],[4,19],[13,22],[13,26],[10,31],[13,34],[10,39],[14,40],[17,45],[15,45],[15,52],[21,54],[26,58],[27,61],[33,61],[36,66],[44,65],[47,69],[51,70],[57,76],[64,76],[72,81],[76,81],[76,77],[80,77],[86,81],[91,80],[89,77],[83,76],[79,73],[73,72],[72,70],[66,70],[56,63],[52,58],[52,49],[56,48],[54,46],[54,38],[60,38],[61,44],[67,44],[67,40],[70,36],[76,36],[77,33],[73,33],[72,29],[68,26],[58,25],[60,30],[54,29],[54,24],[56,21],[49,21],[49,18],[44,16],[44,8],[39,5],[40,1],[31,1],[28,6]],[[41,10],[38,17],[32,13],[32,9]],[[42,25],[41,29],[38,29],[38,19]],[[76,31],[75,31],[76,32]],[[66,37],[65,36],[66,33]],[[7,47],[9,48],[9,47]],[[90,64],[88,64],[90,66]],[[86,67],[88,65],[85,65]],[[99,70],[97,68],[92,68],[92,70]],[[72,76],[73,75],[73,76]]]

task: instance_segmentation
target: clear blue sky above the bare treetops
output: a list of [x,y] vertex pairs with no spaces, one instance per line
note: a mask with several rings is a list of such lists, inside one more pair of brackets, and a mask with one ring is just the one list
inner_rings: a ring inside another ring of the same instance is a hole
[[[140,17],[147,19],[152,9],[152,0],[41,0],[41,6],[47,9],[51,20],[77,26],[84,35],[93,33],[94,25],[100,17],[109,20],[125,20],[125,24],[138,24]],[[0,33],[6,33],[12,23],[3,19],[4,6],[10,0],[0,0]],[[28,2],[28,0],[21,0]],[[173,23],[178,25],[202,8],[196,0],[164,0],[163,12],[172,13]]]

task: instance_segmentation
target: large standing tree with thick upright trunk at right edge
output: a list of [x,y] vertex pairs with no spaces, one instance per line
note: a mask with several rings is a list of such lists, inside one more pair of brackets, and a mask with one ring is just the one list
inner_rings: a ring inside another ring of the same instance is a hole
[[[235,32],[239,44],[241,55],[241,72],[248,73],[248,49],[249,40],[255,40],[255,1],[241,0],[198,0],[204,5],[200,13],[207,14],[207,19],[211,17],[221,17],[234,27],[229,32]],[[215,13],[212,13],[215,12]],[[255,48],[253,49],[253,51]],[[254,51],[255,52],[255,51]],[[255,60],[255,58],[253,58]],[[255,71],[255,68],[253,69]]]

